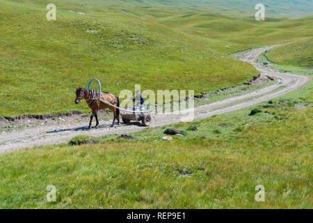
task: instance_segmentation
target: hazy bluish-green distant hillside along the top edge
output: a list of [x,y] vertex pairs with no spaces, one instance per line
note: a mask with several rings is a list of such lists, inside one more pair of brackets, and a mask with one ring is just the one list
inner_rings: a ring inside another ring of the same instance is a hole
[[[29,2],[28,0],[15,0],[17,2]],[[40,0],[32,0],[40,4]],[[54,1],[62,3],[64,1]],[[271,17],[292,17],[312,15],[313,3],[307,0],[67,0],[72,5],[92,5],[97,6],[175,6],[180,8],[193,8],[197,10],[215,10],[232,15],[255,15],[255,5],[263,3],[266,7],[266,15]]]

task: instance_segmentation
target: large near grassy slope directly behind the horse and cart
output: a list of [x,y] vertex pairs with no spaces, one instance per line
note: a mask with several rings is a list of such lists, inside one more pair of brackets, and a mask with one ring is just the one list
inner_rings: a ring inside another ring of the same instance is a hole
[[[68,12],[76,10],[68,5],[48,22],[44,7],[0,4],[0,116],[87,110],[73,105],[74,92],[93,77],[115,94],[135,84],[200,93],[257,74],[212,52],[208,43],[134,15],[136,10],[103,8],[82,16]],[[97,33],[86,32],[90,28]]]

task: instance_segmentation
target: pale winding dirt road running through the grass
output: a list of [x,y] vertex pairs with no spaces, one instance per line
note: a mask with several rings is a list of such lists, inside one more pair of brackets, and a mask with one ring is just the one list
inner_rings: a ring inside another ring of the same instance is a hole
[[[256,105],[259,102],[264,102],[271,98],[294,91],[310,81],[310,79],[305,76],[280,73],[257,64],[255,62],[257,56],[270,48],[271,47],[264,47],[248,52],[241,57],[241,60],[251,63],[257,68],[257,70],[262,72],[262,75],[275,78],[277,80],[275,84],[244,95],[196,107],[194,109],[195,119],[207,118],[216,114],[224,114],[251,105]],[[151,127],[182,121],[182,114],[157,114],[152,117],[153,121]],[[60,123],[46,122],[40,123],[31,128],[14,130],[13,132],[2,132],[0,134],[0,153],[17,151],[21,148],[31,148],[33,146],[45,144],[58,144],[69,141],[72,137],[80,134],[99,137],[105,134],[122,134],[143,130],[143,127],[136,123],[130,123],[129,125],[121,124],[114,128],[109,127],[110,123],[111,121],[106,121],[105,123],[102,121],[102,125],[100,125],[98,129],[87,130],[86,125],[88,124],[88,117],[81,118],[80,116],[74,116],[71,118],[65,118],[65,120],[61,120]]]

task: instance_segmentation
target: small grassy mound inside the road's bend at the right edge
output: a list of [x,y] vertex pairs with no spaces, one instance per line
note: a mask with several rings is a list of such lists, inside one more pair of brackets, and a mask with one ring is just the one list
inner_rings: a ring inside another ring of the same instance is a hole
[[271,49],[266,56],[278,64],[313,67],[313,38],[301,38]]

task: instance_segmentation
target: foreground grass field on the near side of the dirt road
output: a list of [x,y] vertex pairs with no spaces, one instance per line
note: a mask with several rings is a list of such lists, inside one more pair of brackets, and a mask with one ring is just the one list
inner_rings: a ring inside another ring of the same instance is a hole
[[[1,155],[0,208],[312,208],[312,84],[257,108]],[[196,125],[198,131],[188,131]],[[166,128],[186,137],[162,141]],[[56,202],[45,201],[55,185]],[[256,202],[256,185],[266,201]]]

